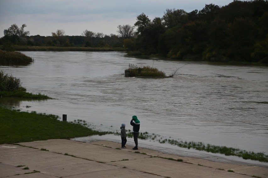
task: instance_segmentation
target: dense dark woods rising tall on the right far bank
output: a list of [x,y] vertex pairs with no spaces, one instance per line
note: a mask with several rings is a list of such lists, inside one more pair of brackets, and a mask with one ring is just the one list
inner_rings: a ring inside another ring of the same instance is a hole
[[130,51],[181,60],[268,63],[268,1],[237,1],[198,11],[167,9],[163,17],[137,16]]

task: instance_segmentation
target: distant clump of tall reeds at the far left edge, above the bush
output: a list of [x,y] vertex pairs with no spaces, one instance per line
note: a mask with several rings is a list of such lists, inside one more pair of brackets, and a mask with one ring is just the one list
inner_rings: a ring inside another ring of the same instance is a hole
[[14,51],[0,50],[0,65],[28,65],[34,62],[34,59]]

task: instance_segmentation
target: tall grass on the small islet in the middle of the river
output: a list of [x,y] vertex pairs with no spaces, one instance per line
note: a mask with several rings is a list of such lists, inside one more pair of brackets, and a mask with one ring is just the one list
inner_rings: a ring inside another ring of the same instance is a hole
[[130,72],[130,77],[141,76],[141,77],[165,77],[166,74],[163,71],[159,71],[157,68],[150,66],[137,67],[137,65],[129,64],[127,69]]

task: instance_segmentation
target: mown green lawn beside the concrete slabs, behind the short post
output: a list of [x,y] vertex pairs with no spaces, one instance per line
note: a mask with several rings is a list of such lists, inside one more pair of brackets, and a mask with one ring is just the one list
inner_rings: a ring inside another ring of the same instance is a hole
[[58,116],[0,107],[0,144],[102,135],[81,124],[62,122]]

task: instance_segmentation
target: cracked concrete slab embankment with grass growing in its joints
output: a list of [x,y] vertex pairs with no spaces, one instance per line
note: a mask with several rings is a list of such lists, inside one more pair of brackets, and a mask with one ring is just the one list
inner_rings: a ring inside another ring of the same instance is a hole
[[0,145],[0,175],[30,177],[265,178],[268,167],[181,157],[110,141],[51,139]]

